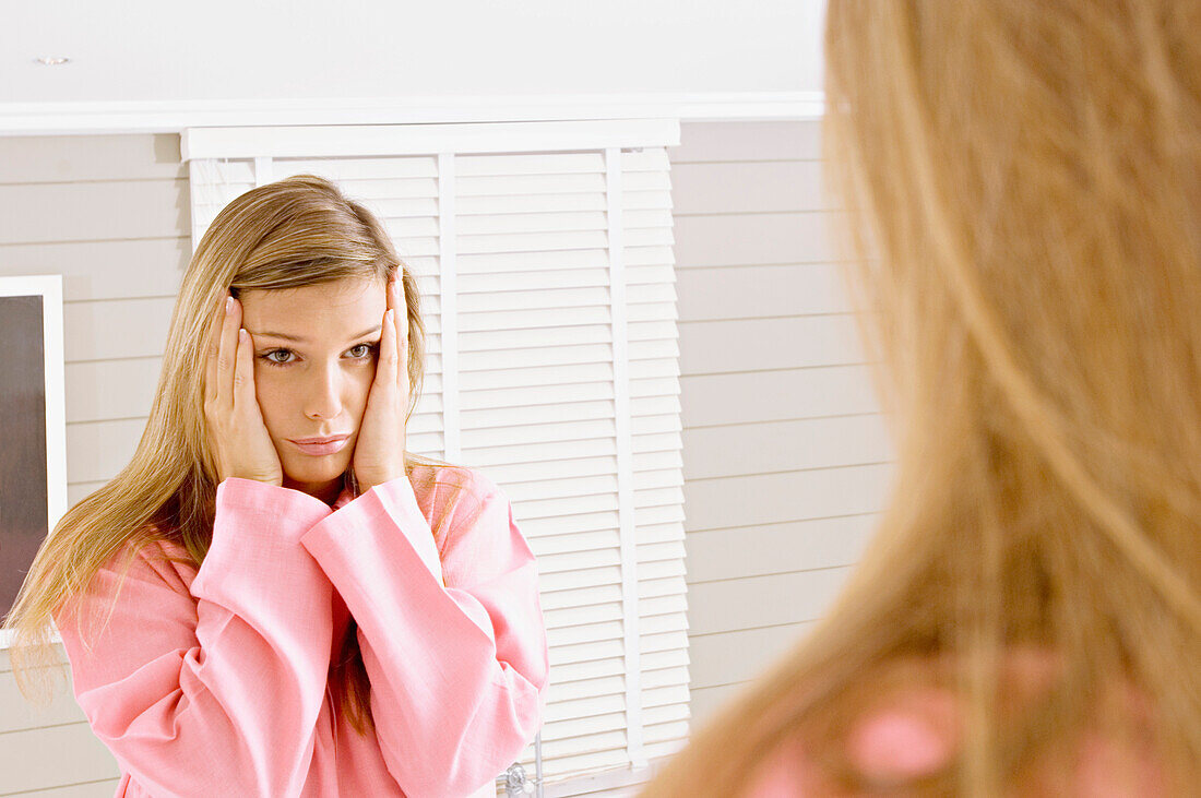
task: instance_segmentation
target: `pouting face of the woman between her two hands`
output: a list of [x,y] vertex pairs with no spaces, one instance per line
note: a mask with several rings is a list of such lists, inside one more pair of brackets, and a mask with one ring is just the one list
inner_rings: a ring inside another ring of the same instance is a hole
[[[336,497],[375,378],[384,283],[346,278],[244,290],[239,299],[253,344],[255,392],[280,455],[283,485]],[[295,443],[331,436],[348,437],[330,454]]]

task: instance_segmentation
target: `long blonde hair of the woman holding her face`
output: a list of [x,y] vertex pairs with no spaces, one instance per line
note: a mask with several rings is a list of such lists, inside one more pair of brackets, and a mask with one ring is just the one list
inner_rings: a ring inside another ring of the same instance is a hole
[[[26,700],[48,704],[53,694],[50,671],[59,665],[65,672],[66,664],[58,661],[54,650],[50,622],[78,602],[96,571],[124,547],[116,595],[135,556],[147,544],[169,540],[187,551],[186,560],[167,557],[169,562],[198,569],[204,560],[213,540],[219,479],[207,442],[204,370],[196,364],[204,362],[205,330],[217,299],[226,289],[238,296],[243,290],[297,288],[342,278],[383,284],[398,270],[410,329],[412,388],[407,420],[422,390],[425,326],[417,282],[380,220],[316,175],[295,175],[256,187],[217,214],[184,275],[154,406],[132,460],[62,516],[38,548],[5,618],[5,629],[13,630],[13,673]],[[462,487],[460,469],[408,451],[405,460],[410,476],[414,466],[432,466],[432,470],[423,473],[434,474],[430,482],[450,485],[454,492],[449,500],[454,502]],[[357,492],[349,472],[343,484]],[[150,546],[145,553],[153,556],[156,548]],[[115,604],[116,596],[106,625]],[[374,728],[370,682],[357,628],[352,618],[340,648],[335,641],[340,655],[330,671],[330,688],[335,706],[342,708],[357,731],[366,734]]]

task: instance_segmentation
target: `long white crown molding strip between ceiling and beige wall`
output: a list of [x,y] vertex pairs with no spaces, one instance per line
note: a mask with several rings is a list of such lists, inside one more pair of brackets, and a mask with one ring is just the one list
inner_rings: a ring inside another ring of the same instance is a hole
[[0,136],[179,133],[196,127],[285,125],[799,120],[820,118],[823,106],[820,91],[0,103]]

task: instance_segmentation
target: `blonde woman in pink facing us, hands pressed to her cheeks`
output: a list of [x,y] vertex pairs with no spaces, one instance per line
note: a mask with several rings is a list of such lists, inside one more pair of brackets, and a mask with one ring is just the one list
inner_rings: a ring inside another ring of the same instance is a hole
[[534,558],[491,480],[406,451],[423,354],[413,277],[334,185],[217,215],[132,462],[8,619],[26,696],[55,622],[119,796],[495,794],[533,739]]

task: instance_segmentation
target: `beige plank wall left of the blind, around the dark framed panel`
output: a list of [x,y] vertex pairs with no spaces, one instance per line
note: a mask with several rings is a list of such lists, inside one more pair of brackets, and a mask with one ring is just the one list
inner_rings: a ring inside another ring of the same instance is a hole
[[[62,275],[71,504],[142,434],[190,230],[178,136],[0,138],[0,276]],[[73,694],[30,707],[0,652],[0,796],[101,798],[118,776]]]

